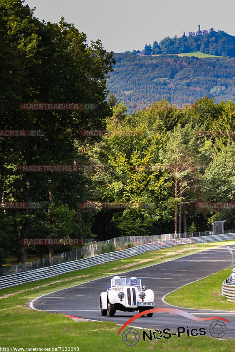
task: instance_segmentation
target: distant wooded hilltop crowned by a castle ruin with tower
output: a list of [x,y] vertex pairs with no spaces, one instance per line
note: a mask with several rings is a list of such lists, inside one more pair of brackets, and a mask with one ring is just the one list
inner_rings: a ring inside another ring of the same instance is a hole
[[144,50],[133,50],[128,52],[133,55],[157,55],[157,54],[180,54],[187,52],[201,51],[209,55],[235,56],[235,37],[223,31],[200,30],[198,25],[197,32],[188,32],[182,37],[165,37],[160,43],[154,42],[145,45]]

